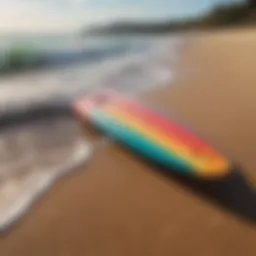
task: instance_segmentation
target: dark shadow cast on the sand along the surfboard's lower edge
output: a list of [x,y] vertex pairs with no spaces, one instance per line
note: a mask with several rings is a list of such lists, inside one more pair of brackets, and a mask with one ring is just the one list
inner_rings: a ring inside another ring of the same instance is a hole
[[256,188],[250,184],[240,167],[234,166],[230,174],[222,179],[200,180],[179,174],[179,170],[159,166],[140,156],[135,155],[135,158],[240,219],[256,224]]

